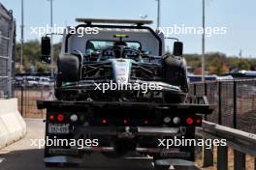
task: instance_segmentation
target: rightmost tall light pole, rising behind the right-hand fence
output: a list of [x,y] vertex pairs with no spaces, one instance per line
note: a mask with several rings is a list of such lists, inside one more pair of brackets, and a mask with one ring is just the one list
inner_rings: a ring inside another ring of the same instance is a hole
[[206,49],[206,0],[203,0],[203,35],[202,35],[202,81],[206,81],[206,61],[205,61],[205,49]]

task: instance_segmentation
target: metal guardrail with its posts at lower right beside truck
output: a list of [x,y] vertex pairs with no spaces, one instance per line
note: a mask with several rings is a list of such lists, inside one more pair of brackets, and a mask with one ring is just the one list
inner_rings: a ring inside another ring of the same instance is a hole
[[[226,139],[228,146],[217,147],[217,169],[228,170],[228,147],[234,150],[234,169],[245,170],[245,156],[256,156],[256,134],[228,128],[204,121],[202,128],[197,128],[197,135],[210,139]],[[213,166],[212,150],[204,149],[204,166]],[[254,162],[256,170],[256,159]]]

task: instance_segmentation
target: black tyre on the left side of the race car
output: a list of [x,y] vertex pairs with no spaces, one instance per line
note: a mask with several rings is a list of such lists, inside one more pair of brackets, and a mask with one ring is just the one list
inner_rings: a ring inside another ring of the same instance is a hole
[[75,82],[80,79],[80,59],[71,54],[59,57],[58,74],[62,82]]

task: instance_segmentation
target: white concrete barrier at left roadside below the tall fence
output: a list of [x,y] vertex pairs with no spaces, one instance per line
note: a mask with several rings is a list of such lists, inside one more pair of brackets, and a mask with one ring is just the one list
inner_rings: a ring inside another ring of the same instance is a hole
[[0,99],[0,149],[25,134],[26,124],[17,110],[17,99]]

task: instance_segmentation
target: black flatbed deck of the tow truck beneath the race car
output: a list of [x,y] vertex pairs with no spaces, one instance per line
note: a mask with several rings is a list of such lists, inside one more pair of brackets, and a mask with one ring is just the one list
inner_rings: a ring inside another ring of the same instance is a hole
[[184,103],[157,103],[157,102],[130,102],[130,101],[70,101],[70,100],[38,100],[38,109],[48,108],[64,108],[73,107],[76,109],[102,107],[102,108],[136,108],[139,110],[144,109],[159,109],[159,110],[172,110],[180,114],[197,113],[208,115],[212,112],[213,108],[208,104],[206,97],[187,97]]

